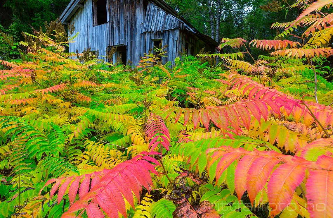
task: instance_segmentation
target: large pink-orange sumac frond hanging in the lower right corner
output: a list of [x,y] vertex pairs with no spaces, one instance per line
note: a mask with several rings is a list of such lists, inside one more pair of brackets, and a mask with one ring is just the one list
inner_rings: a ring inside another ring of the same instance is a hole
[[[309,171],[309,177],[304,182],[306,187],[306,197],[311,204],[307,209],[313,217],[324,215],[323,212],[313,205],[321,204],[323,208],[330,208],[332,202],[332,193],[325,188],[319,188],[314,185],[314,179],[317,184],[328,184],[331,175],[332,158],[320,156],[316,162],[307,161],[303,158],[282,155],[275,151],[259,152],[258,150],[246,151],[242,148],[234,149],[230,147],[220,147],[209,149],[207,152],[213,152],[208,166],[217,161],[216,179],[218,180],[224,170],[238,160],[235,171],[235,188],[238,199],[247,190],[251,203],[259,191],[261,191],[268,180],[267,194],[271,214],[276,215],[287,207],[293,199],[293,193],[305,179],[305,171]],[[317,177],[317,178],[316,178]],[[325,196],[320,198],[318,196]]]

